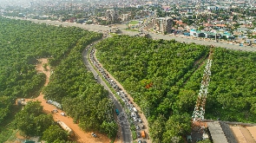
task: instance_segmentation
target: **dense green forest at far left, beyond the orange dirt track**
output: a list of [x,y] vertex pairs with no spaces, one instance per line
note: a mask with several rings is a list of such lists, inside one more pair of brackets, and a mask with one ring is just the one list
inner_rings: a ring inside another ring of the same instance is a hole
[[39,94],[45,75],[36,73],[37,58],[51,57],[55,66],[86,33],[0,16],[0,123],[16,97]]

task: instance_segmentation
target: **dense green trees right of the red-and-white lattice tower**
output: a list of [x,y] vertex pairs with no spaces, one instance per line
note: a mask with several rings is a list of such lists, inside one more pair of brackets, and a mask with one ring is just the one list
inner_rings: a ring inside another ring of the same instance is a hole
[[207,117],[256,122],[256,53],[216,49]]

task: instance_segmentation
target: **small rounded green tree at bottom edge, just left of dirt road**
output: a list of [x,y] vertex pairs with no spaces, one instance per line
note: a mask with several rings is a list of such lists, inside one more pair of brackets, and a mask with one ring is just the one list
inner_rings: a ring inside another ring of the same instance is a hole
[[55,142],[55,140],[68,140],[68,133],[66,133],[61,127],[51,125],[47,130],[43,132],[43,140],[47,142]]

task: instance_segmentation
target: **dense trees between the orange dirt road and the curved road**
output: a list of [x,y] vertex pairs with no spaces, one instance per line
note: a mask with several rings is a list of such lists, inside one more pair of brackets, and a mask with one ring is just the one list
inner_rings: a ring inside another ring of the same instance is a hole
[[[96,83],[94,75],[86,70],[81,54],[86,45],[101,37],[100,34],[91,34],[81,38],[69,56],[55,68],[43,93],[46,99],[61,102],[64,111],[83,130],[100,130],[113,137],[117,128],[112,122],[113,103],[108,100],[108,91]],[[106,113],[112,114],[111,118]]]

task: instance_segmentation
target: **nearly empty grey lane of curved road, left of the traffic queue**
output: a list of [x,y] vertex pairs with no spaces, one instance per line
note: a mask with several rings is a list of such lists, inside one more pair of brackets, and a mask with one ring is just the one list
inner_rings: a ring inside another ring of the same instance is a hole
[[[101,40],[99,40],[101,41]],[[99,42],[98,41],[98,42]],[[95,71],[95,68],[93,68],[93,66],[90,64],[89,59],[87,57],[87,55],[89,54],[89,49],[92,46],[88,46],[86,49],[83,49],[82,51],[82,61],[84,63],[84,65],[86,66],[86,68],[91,71],[93,73],[93,75],[95,75],[95,77],[97,77],[97,73]],[[108,88],[107,84],[105,83],[105,81],[102,80],[102,78],[100,78],[100,76],[98,76],[98,78],[96,79],[96,81],[100,84],[102,84],[102,86],[108,90],[108,97],[114,102],[115,104],[115,108],[117,108],[120,112],[120,114],[125,114],[125,112],[123,111],[120,102],[115,98],[115,95],[111,92],[111,90]],[[118,118],[118,117],[117,117]],[[121,137],[122,137],[122,142],[123,143],[131,143],[132,142],[132,134],[131,134],[131,130],[130,130],[130,126],[128,121],[125,121],[125,119],[121,119],[124,120],[122,123],[118,123],[119,127],[121,127]]]

